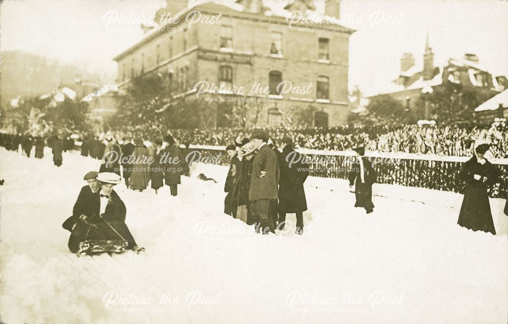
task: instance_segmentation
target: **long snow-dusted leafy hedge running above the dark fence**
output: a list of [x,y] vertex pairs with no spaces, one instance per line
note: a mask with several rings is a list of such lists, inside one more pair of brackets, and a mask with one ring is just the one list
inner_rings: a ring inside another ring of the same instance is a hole
[[[133,132],[134,129],[125,131]],[[144,134],[162,131],[152,125]],[[368,151],[435,154],[466,157],[473,154],[477,139],[488,139],[494,158],[508,158],[508,125],[500,119],[490,128],[469,126],[402,125],[402,124],[346,124],[333,128],[274,128],[266,130],[272,138],[290,137],[295,148],[325,151],[346,151],[365,146]],[[182,143],[205,146],[226,146],[248,136],[252,129],[179,129],[172,130]]]

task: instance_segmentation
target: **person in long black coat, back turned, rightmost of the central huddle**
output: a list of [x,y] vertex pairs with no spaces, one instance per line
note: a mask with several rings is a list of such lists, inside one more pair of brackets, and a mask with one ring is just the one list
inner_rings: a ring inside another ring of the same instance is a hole
[[[309,175],[308,164],[303,164],[300,153],[293,149],[293,140],[284,137],[281,140],[282,153],[279,155],[279,225],[283,230],[286,213],[296,214],[296,233],[303,234],[303,212],[307,210],[307,199],[303,183]],[[291,163],[291,165],[290,165]]]

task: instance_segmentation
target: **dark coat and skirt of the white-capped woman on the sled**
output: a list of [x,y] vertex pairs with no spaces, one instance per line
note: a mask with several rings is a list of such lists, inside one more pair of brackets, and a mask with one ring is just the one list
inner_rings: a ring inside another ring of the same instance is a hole
[[[100,200],[97,201],[92,208],[100,210]],[[88,223],[81,220],[77,221],[76,227],[74,227],[71,237],[69,238],[69,249],[72,252],[77,251],[79,242],[85,239],[121,240],[122,238],[127,241],[127,248],[132,249],[136,246],[136,241],[125,224],[125,215],[125,204],[118,194],[112,191],[102,218],[92,217],[91,219],[87,219]]]

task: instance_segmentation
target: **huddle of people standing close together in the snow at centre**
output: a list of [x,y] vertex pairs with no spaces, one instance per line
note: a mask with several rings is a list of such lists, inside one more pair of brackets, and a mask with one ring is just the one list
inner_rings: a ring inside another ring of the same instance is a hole
[[262,234],[283,230],[286,214],[295,213],[296,233],[303,234],[307,210],[303,184],[309,170],[301,159],[292,165],[288,162],[289,155],[300,154],[293,149],[292,139],[284,137],[277,146],[265,131],[255,130],[252,139],[244,138],[226,149],[231,164],[224,212]]

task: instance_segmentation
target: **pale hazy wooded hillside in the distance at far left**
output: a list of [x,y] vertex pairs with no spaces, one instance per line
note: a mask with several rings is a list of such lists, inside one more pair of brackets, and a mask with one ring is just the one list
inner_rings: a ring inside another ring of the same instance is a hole
[[[107,83],[98,74],[90,74],[83,68],[65,64],[37,54],[22,51],[0,53],[0,97],[4,106],[12,98],[33,97],[48,93],[53,87],[66,85],[83,96],[90,84]],[[81,80],[84,86],[76,84]],[[93,91],[93,90],[92,90]]]

